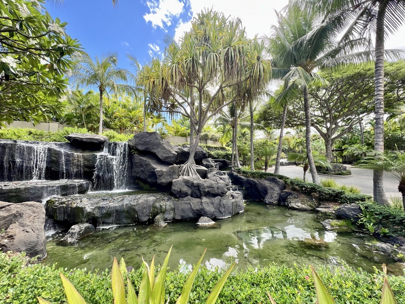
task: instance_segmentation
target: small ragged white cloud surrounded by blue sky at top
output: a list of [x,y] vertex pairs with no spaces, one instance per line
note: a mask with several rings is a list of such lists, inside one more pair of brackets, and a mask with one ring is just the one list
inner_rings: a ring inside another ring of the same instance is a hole
[[172,18],[178,17],[184,6],[184,3],[178,0],[152,0],[147,1],[146,4],[150,13],[143,16],[145,21],[150,21],[154,28],[159,26],[163,29],[172,24]]

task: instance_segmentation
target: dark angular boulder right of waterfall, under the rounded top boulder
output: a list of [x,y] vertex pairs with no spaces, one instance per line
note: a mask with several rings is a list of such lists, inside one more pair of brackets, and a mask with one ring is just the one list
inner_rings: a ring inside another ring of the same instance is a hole
[[153,155],[134,154],[132,176],[158,189],[168,190],[172,181],[179,178],[179,166],[164,164]]

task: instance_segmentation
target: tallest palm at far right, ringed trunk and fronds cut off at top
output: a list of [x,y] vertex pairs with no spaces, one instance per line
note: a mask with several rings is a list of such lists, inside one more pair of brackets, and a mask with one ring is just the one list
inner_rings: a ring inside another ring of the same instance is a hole
[[[302,3],[302,2],[301,2]],[[314,7],[332,13],[346,10],[352,15],[352,24],[342,40],[351,36],[376,35],[375,40],[375,136],[374,149],[384,151],[384,57],[399,58],[401,51],[386,51],[384,41],[386,32],[394,33],[405,22],[404,0],[321,0],[311,3]],[[401,54],[402,53],[402,54]],[[383,171],[375,169],[373,173],[374,200],[388,204],[384,191]]]

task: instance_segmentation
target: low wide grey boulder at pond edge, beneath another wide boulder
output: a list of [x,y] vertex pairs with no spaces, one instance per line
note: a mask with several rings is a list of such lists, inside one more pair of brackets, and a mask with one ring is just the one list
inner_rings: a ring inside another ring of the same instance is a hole
[[245,210],[242,196],[238,193],[227,193],[223,197],[186,197],[174,201],[175,219],[193,219],[200,216],[209,218],[227,218]]

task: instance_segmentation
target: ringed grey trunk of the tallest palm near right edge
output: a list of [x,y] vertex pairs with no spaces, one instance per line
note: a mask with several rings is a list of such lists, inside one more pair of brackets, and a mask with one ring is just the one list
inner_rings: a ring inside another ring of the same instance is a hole
[[[376,27],[376,57],[375,57],[375,127],[374,149],[384,151],[384,19],[387,1],[378,2]],[[388,200],[384,191],[384,171],[373,171],[373,196],[379,204],[387,205]]]

